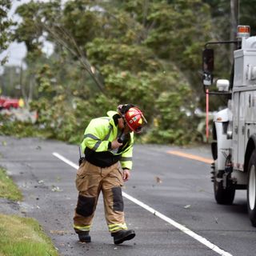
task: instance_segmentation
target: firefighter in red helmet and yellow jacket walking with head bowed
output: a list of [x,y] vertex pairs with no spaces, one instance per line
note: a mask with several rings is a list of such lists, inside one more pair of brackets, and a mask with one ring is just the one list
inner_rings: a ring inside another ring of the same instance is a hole
[[86,127],[81,144],[85,157],[76,176],[78,203],[74,230],[81,242],[90,242],[90,227],[102,191],[105,217],[114,244],[134,238],[124,218],[123,182],[130,178],[134,133],[146,123],[142,111],[132,104],[120,105],[108,117],[94,118]]

